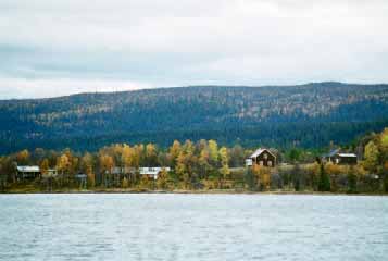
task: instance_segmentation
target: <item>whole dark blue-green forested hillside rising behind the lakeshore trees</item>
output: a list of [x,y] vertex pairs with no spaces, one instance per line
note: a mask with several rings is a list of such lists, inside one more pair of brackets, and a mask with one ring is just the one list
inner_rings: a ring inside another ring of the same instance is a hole
[[312,148],[388,125],[388,85],[195,86],[0,101],[0,152],[216,139]]

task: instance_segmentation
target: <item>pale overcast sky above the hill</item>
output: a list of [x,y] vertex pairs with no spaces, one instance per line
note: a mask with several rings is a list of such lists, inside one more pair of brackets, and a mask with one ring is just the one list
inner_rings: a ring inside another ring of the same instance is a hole
[[1,0],[0,99],[388,83],[387,0]]

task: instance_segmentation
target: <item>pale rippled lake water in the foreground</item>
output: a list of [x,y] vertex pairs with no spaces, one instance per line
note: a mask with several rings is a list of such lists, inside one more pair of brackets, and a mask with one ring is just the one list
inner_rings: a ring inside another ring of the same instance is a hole
[[0,260],[388,260],[388,197],[0,195]]

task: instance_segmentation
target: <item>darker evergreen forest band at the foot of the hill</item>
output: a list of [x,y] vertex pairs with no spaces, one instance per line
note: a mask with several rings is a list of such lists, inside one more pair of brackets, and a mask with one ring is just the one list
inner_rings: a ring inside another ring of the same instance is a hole
[[[189,139],[215,139],[222,146],[233,147],[240,145],[253,149],[258,145],[288,150],[293,147],[304,149],[321,149],[328,144],[348,145],[355,142],[371,132],[381,132],[388,125],[387,121],[365,123],[287,123],[261,124],[258,127],[240,127],[223,130],[166,130],[166,132],[117,132],[102,136],[85,134],[82,137],[53,137],[23,139],[15,137],[11,140],[1,140],[0,148],[5,152],[17,149],[49,148],[62,150],[72,148],[75,151],[98,151],[110,144],[148,144],[152,142],[160,148],[167,148],[174,140],[185,142]],[[9,148],[9,149],[7,149]],[[0,149],[1,150],[1,149]]]

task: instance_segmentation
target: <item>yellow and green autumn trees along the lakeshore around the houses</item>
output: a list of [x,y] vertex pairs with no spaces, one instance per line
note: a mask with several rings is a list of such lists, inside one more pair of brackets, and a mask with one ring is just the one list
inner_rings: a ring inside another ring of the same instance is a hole
[[[295,147],[286,151],[272,149],[276,167],[245,166],[245,159],[252,153],[240,145],[218,146],[215,140],[197,142],[175,140],[168,148],[154,144],[114,144],[98,152],[79,153],[35,149],[0,158],[0,188],[4,191],[33,186],[39,191],[77,189],[235,189],[287,190],[334,192],[387,192],[388,191],[388,129],[361,138],[363,159],[356,165],[320,163],[318,154]],[[350,146],[348,150],[355,150]],[[25,181],[16,175],[18,165],[39,165],[41,177]],[[168,166],[158,179],[140,176],[140,166]],[[55,169],[55,176],[49,170]],[[134,172],[116,172],[132,169]],[[86,183],[77,176],[85,174]]]

